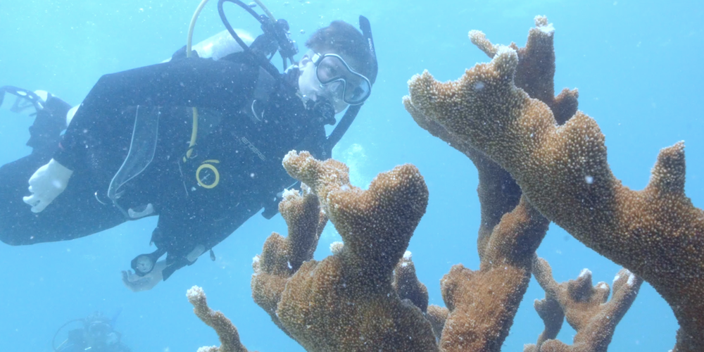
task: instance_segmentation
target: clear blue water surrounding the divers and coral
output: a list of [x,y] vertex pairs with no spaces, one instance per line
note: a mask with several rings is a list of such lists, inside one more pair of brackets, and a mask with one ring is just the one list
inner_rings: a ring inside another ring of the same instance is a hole
[[[479,227],[477,172],[470,161],[415,125],[401,96],[415,73],[428,69],[453,80],[474,63],[488,61],[467,39],[469,30],[494,43],[524,45],[534,15],[555,25],[555,89],[579,88],[579,108],[606,136],[615,175],[632,189],[648,182],[658,150],[686,142],[686,191],[704,206],[704,3],[701,1],[265,1],[291,23],[301,43],[331,20],[372,23],[379,56],[373,94],[334,151],[352,167],[353,182],[365,187],[378,172],[413,163],[425,176],[427,213],[410,242],[417,274],[431,303],[443,305],[439,279],[451,265],[477,269]],[[157,63],[185,43],[197,1],[2,1],[0,85],[46,89],[79,103],[105,73]],[[256,32],[251,18],[230,7],[236,27]],[[196,27],[199,41],[220,32],[215,2]],[[303,33],[304,32],[304,33]],[[0,163],[29,153],[24,146],[32,121],[0,112]],[[84,239],[25,247],[0,244],[0,351],[51,351],[64,322],[96,310],[121,310],[116,329],[133,351],[196,351],[219,344],[213,331],[191,313],[185,291],[203,287],[210,305],[237,325],[250,350],[302,351],[251,299],[251,260],[272,231],[285,232],[280,216],[253,217],[204,257],[151,291],[134,294],[120,281],[138,253],[151,251],[156,219],[130,222]],[[327,228],[316,258],[339,239]],[[539,255],[558,281],[589,268],[595,284],[609,284],[620,269],[551,225]],[[482,289],[481,287],[477,289]],[[533,300],[543,291],[532,282],[503,351],[534,343],[543,324]],[[611,351],[667,351],[677,322],[648,284],[618,325]],[[567,324],[559,339],[571,343]]]

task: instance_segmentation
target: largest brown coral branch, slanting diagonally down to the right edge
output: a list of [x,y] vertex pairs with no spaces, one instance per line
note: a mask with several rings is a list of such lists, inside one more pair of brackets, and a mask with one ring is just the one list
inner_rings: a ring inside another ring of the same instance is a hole
[[548,219],[646,279],[674,310],[676,349],[704,351],[704,212],[684,194],[684,145],[660,151],[648,187],[632,191],[612,175],[596,122],[577,112],[558,127],[516,87],[518,65],[501,47],[457,82],[425,72],[410,80],[407,105],[510,172]]

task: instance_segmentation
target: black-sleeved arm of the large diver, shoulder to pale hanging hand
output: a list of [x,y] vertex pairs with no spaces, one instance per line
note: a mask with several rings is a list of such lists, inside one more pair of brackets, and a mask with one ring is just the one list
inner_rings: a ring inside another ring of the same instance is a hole
[[75,170],[85,149],[82,134],[109,130],[111,121],[99,117],[127,118],[120,112],[128,106],[199,106],[237,111],[251,96],[258,73],[258,68],[251,65],[189,58],[103,75],[73,117],[54,159]]

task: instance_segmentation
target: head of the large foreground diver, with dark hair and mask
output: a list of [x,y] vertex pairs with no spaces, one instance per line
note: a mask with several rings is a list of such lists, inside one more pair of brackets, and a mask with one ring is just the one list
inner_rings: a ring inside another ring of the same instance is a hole
[[309,50],[298,63],[298,89],[304,98],[325,97],[335,113],[367,99],[377,63],[362,33],[338,20],[315,31],[306,46]]

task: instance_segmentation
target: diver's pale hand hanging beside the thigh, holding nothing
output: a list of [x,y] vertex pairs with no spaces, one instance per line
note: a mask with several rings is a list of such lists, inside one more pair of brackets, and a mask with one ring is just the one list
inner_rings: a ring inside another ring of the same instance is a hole
[[23,197],[22,200],[32,206],[32,213],[40,213],[66,189],[71,175],[72,170],[51,159],[30,177],[32,195]]

